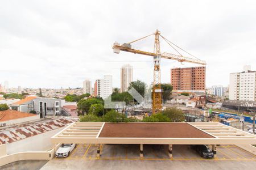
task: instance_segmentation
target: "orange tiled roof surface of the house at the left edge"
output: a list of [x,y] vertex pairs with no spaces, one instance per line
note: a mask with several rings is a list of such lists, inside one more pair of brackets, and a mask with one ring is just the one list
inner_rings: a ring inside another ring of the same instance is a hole
[[24,112],[8,109],[6,111],[0,111],[0,122],[14,120],[16,118],[29,117],[29,116],[36,116],[36,114],[24,113]]

